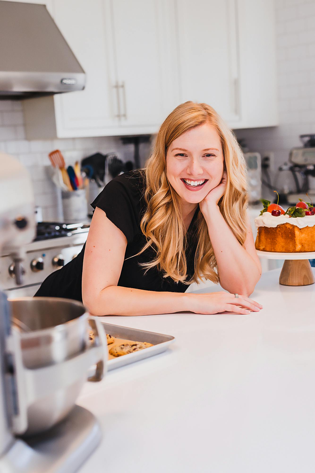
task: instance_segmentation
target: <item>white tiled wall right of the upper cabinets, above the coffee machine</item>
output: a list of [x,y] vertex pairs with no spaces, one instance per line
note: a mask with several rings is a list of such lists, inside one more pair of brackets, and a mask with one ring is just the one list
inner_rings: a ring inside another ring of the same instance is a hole
[[315,0],[275,0],[275,6],[280,126],[235,134],[250,151],[274,152],[276,185],[276,169],[302,146],[298,136],[315,133]]

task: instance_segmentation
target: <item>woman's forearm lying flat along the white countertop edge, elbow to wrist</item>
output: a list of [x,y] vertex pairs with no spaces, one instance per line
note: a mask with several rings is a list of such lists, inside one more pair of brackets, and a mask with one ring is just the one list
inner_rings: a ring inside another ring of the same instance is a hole
[[187,294],[109,286],[97,297],[83,297],[92,315],[154,315],[190,310]]

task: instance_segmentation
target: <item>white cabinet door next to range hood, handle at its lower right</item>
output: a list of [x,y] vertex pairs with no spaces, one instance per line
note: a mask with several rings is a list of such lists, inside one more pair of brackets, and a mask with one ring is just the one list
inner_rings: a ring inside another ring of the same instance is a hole
[[54,97],[59,136],[93,136],[117,127],[111,45],[105,36],[110,25],[103,1],[53,0],[53,14],[86,73],[83,91]]

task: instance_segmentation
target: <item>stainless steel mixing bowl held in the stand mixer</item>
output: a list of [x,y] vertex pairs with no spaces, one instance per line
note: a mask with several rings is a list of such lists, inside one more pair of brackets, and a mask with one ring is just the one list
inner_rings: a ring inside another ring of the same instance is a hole
[[[20,328],[17,324],[15,327],[20,332],[24,368],[35,371],[88,352],[91,327],[85,307],[80,302],[59,298],[16,298],[9,302],[13,321],[15,318],[22,323]],[[26,327],[29,328],[28,332],[24,331]],[[27,404],[28,427],[25,435],[49,429],[73,408],[87,380],[87,371],[77,369],[75,375],[69,373],[68,379],[72,379],[70,385],[66,385],[67,377],[67,373],[58,376],[49,395]],[[19,392],[18,395],[23,396],[24,393]]]

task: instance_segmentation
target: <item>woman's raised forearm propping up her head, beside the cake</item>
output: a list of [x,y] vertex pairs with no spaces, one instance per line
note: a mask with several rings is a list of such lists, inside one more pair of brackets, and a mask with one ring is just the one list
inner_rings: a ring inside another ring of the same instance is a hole
[[238,243],[217,205],[211,207],[205,220],[217,261],[221,287],[248,297],[260,278],[260,268]]

